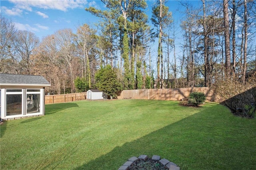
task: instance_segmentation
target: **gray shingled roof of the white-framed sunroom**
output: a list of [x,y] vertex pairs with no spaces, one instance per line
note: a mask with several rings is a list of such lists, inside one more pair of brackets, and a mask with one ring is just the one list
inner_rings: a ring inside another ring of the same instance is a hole
[[0,73],[0,84],[50,84],[50,83],[43,76]]

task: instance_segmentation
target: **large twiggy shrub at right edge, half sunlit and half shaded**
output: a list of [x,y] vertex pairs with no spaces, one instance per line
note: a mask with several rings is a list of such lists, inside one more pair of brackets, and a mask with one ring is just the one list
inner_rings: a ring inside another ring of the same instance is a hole
[[226,79],[214,84],[217,101],[238,116],[254,118],[256,114],[256,74],[245,83]]

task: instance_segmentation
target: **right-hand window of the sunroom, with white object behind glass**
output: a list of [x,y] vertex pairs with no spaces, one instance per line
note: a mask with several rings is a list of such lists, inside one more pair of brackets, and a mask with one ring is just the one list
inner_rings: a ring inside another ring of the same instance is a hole
[[40,113],[40,89],[27,90],[27,113]]

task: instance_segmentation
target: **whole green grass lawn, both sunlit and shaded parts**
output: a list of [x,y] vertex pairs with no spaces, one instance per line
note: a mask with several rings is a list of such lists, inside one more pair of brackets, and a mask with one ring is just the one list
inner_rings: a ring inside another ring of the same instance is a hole
[[256,119],[216,103],[104,100],[46,105],[0,126],[0,169],[117,170],[132,156],[181,169],[256,169]]

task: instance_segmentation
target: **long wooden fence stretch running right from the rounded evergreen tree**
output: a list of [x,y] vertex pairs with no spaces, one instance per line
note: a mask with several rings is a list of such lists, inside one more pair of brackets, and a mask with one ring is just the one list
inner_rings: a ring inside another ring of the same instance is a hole
[[214,101],[213,92],[208,87],[123,90],[118,99],[182,100],[191,92],[203,92],[207,101]]

